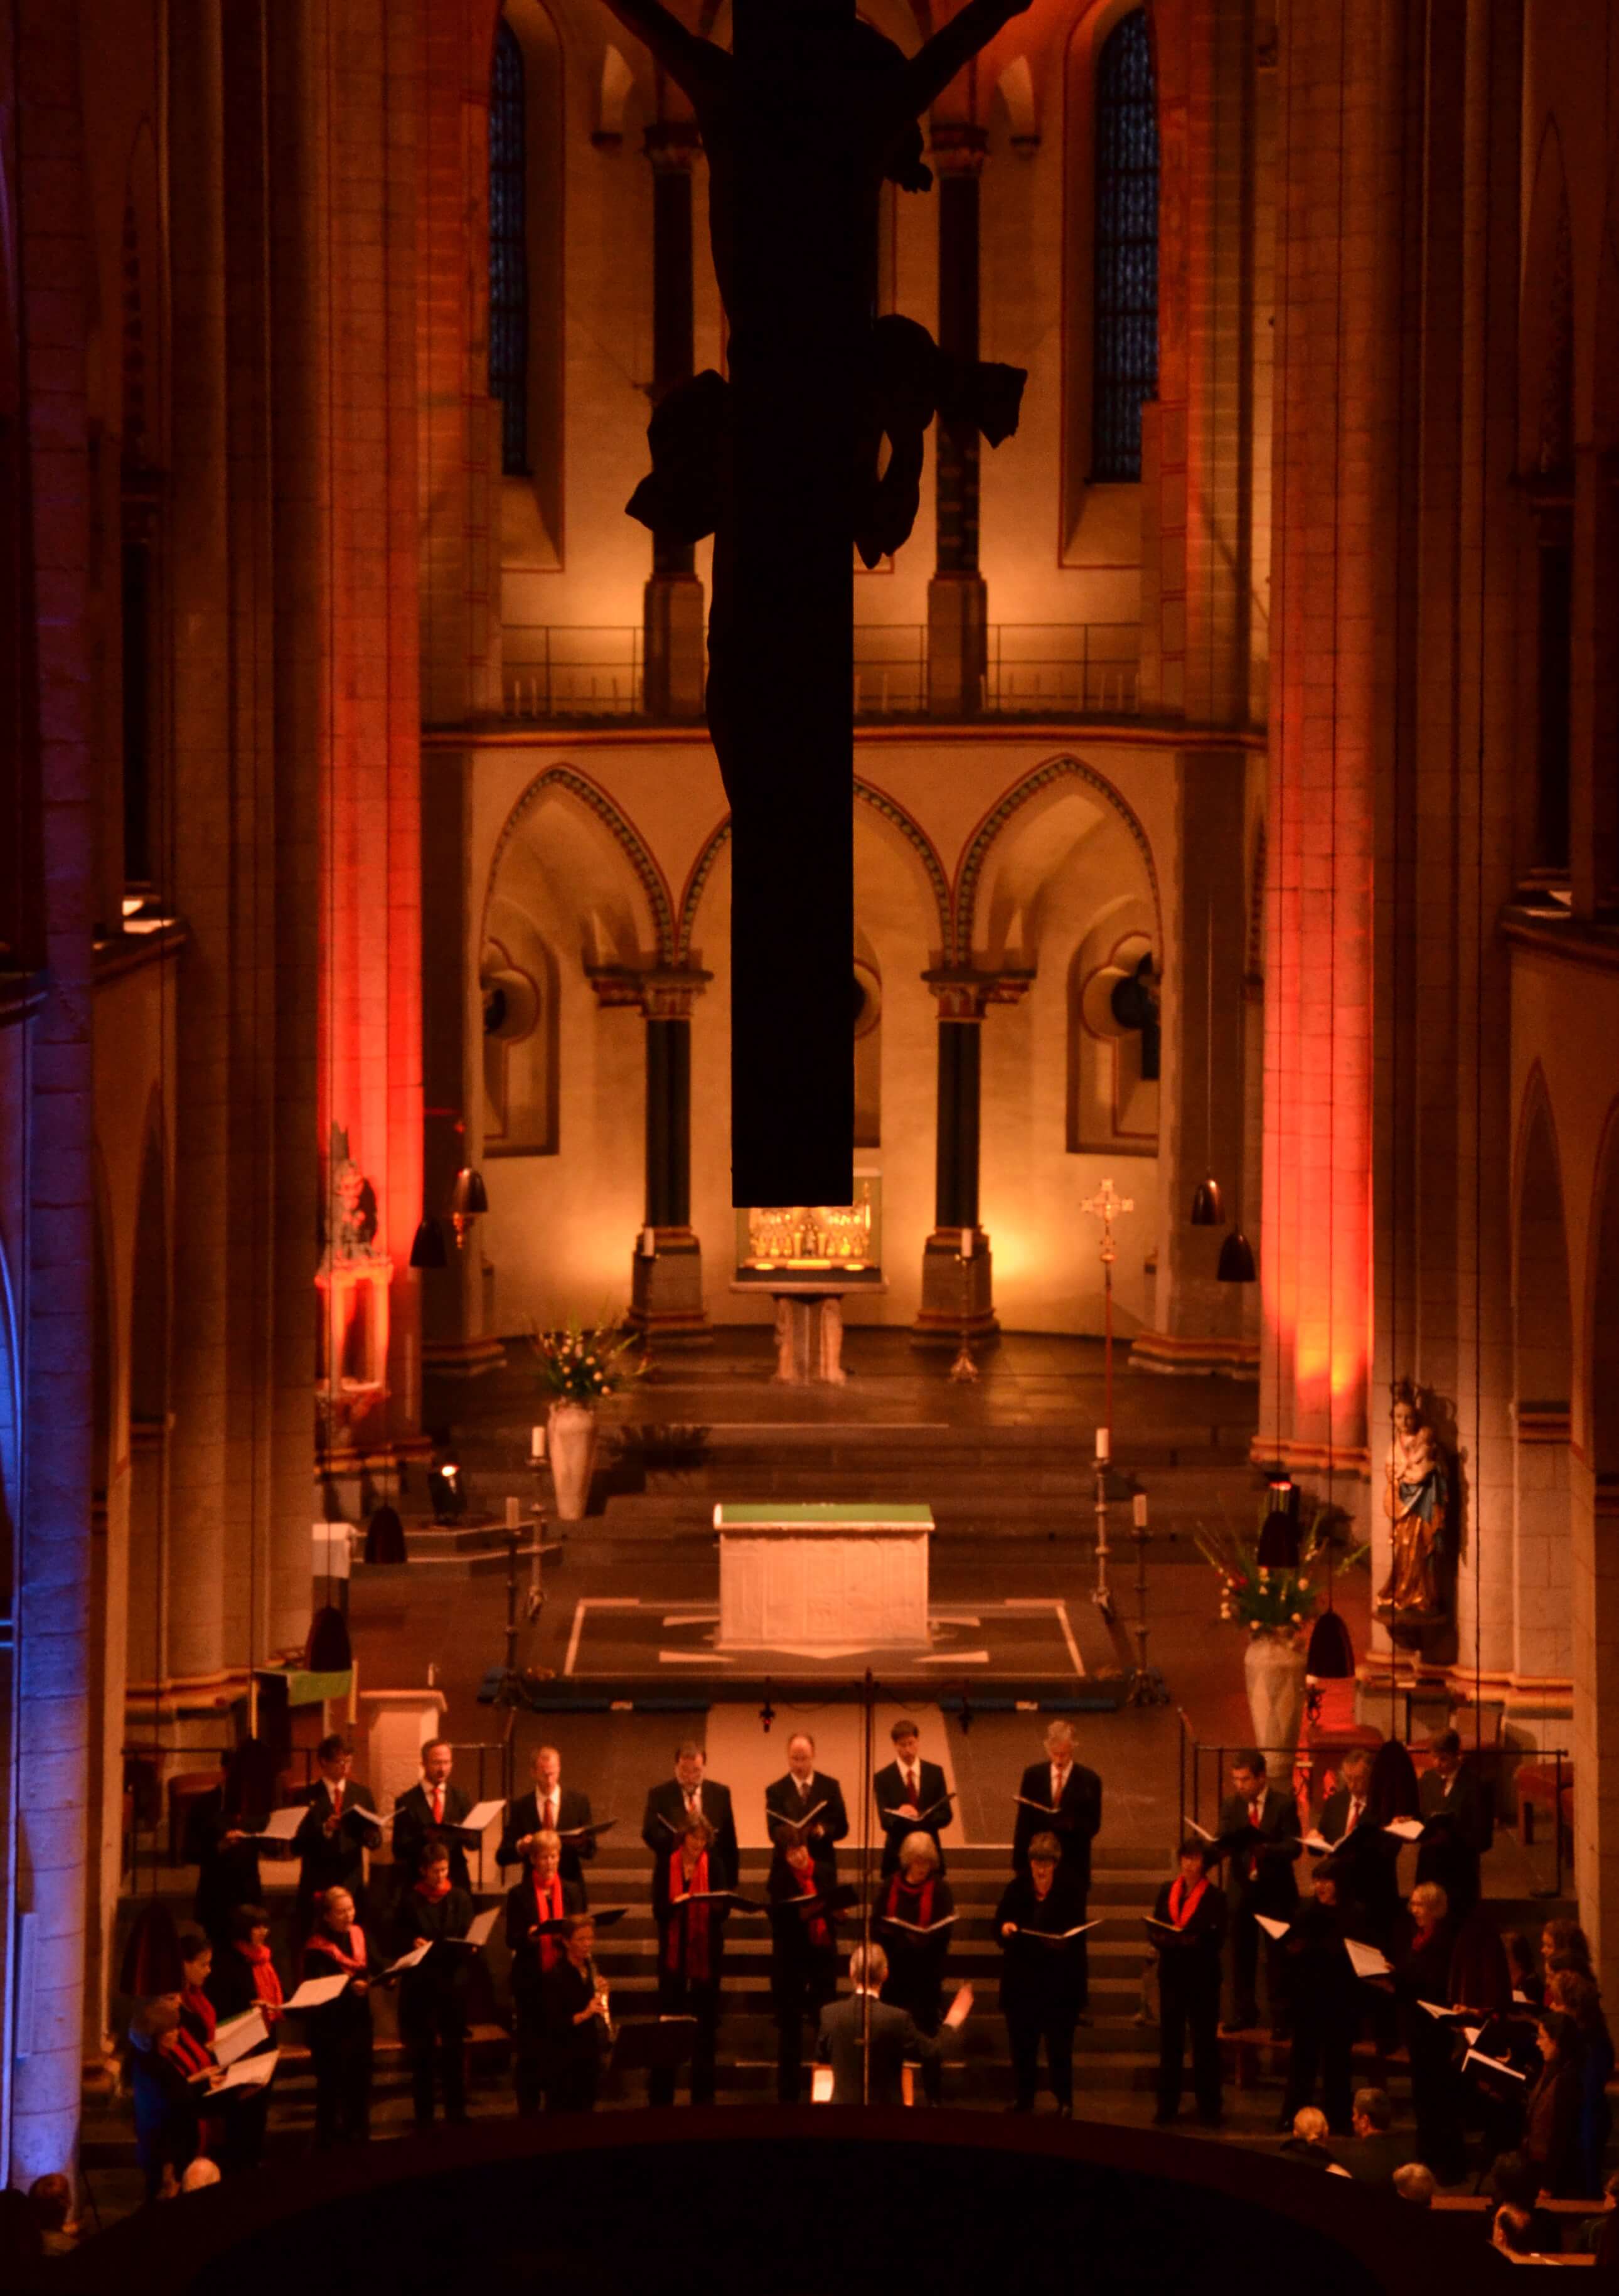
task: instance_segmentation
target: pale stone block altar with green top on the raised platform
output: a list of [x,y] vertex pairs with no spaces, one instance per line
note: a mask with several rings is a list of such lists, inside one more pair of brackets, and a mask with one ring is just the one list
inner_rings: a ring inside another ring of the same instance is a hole
[[714,1529],[716,1651],[928,1649],[930,1506],[721,1502]]

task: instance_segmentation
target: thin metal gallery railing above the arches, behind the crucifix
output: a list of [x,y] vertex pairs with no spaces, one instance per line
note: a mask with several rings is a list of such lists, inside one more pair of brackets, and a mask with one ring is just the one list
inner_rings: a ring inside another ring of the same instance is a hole
[[[1134,622],[994,622],[969,716],[1134,716],[1141,634]],[[505,716],[636,719],[641,627],[505,625]],[[854,716],[928,716],[923,622],[854,631]]]

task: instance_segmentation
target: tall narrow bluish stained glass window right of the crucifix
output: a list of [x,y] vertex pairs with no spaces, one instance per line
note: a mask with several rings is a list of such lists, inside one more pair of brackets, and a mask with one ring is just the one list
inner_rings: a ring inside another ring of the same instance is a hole
[[1157,393],[1157,113],[1146,9],[1095,62],[1095,344],[1091,478],[1141,478],[1141,400]]

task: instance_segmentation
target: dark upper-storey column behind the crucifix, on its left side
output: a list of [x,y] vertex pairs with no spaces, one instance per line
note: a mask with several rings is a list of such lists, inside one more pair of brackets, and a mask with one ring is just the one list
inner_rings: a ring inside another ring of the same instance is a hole
[[[652,163],[652,406],[691,379],[691,163],[696,119],[654,119],[645,131]],[[703,583],[694,546],[652,535],[645,585],[643,709],[654,719],[703,716]]]

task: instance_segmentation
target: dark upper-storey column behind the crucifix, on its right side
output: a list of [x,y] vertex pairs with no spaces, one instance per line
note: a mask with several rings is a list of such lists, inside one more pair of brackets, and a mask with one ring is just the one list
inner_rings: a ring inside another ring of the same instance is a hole
[[[967,119],[937,122],[939,177],[939,349],[978,356],[978,177],[987,131]],[[978,429],[935,422],[937,549],[928,583],[928,712],[967,716],[983,703],[987,588],[978,572]]]

